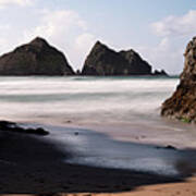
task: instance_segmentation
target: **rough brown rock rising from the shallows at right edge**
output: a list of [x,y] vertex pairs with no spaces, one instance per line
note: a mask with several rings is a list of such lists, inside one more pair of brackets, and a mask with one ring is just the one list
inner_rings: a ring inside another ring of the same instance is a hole
[[185,65],[180,85],[162,105],[161,114],[184,122],[196,123],[196,37],[186,47]]

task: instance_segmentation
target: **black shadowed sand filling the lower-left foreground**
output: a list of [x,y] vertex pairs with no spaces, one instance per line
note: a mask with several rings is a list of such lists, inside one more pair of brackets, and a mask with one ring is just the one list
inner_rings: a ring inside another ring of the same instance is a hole
[[122,193],[182,179],[69,164],[68,151],[24,134],[0,132],[0,194]]

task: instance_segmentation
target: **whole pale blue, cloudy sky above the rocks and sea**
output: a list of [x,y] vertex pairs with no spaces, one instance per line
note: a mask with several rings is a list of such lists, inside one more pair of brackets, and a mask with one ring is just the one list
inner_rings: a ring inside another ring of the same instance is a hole
[[74,70],[100,40],[180,74],[196,36],[196,0],[0,0],[0,54],[37,36],[63,51]]

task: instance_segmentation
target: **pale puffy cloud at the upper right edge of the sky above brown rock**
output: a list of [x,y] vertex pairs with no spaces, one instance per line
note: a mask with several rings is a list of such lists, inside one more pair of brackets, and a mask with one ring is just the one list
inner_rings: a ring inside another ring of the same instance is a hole
[[182,16],[170,15],[151,24],[156,35],[168,36],[193,36],[196,32],[196,10],[191,10]]

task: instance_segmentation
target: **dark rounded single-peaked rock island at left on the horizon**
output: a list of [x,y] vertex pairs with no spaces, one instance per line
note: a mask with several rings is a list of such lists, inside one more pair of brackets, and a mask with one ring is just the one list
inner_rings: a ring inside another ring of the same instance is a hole
[[73,74],[64,54],[39,37],[0,57],[0,75]]

